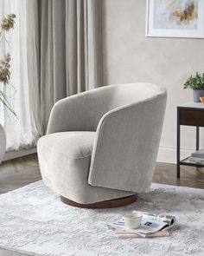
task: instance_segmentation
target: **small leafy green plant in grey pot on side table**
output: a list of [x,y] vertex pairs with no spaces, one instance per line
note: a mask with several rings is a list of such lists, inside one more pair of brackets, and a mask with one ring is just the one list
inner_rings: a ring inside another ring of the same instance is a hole
[[183,89],[193,89],[194,102],[200,102],[200,97],[204,96],[204,73],[190,75],[187,82],[183,84]]

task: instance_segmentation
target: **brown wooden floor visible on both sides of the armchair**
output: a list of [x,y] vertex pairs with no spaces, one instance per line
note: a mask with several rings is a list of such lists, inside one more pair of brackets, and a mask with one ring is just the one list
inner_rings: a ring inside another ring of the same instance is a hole
[[[0,166],[0,194],[40,180],[36,154],[4,161]],[[204,168],[196,171],[195,167],[182,167],[181,179],[177,180],[174,164],[157,163],[153,182],[204,189]]]

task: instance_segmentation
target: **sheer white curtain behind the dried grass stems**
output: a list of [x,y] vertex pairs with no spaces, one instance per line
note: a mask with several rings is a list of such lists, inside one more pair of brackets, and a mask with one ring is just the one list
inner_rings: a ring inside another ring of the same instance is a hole
[[[39,136],[35,125],[35,114],[32,112],[30,100],[38,99],[37,90],[32,90],[30,94],[28,78],[28,43],[27,43],[27,3],[28,0],[0,0],[0,19],[10,13],[16,14],[14,30],[5,34],[8,43],[2,40],[0,56],[10,53],[11,56],[11,77],[10,86],[4,87],[4,92],[10,98],[12,107],[16,111],[17,118],[3,108],[1,105],[0,122],[7,137],[7,150],[19,148],[31,148],[35,145]],[[1,85],[3,88],[3,85]]]

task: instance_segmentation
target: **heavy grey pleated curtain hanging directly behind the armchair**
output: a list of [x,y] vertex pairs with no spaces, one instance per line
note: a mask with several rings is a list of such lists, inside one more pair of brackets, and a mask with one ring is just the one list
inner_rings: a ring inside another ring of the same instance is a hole
[[[41,129],[45,133],[54,102],[103,84],[101,2],[31,0],[28,12],[33,8],[37,11],[29,27],[37,26],[38,20]],[[32,55],[28,60],[32,62]]]

